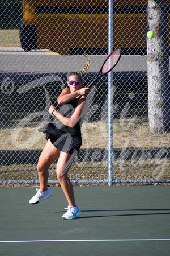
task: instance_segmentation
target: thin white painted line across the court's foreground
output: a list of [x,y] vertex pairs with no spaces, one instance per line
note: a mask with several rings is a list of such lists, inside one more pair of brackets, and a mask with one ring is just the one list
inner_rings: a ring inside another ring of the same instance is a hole
[[107,242],[107,241],[170,241],[170,238],[151,238],[151,239],[71,239],[71,240],[15,240],[0,241],[0,243],[29,243],[29,242]]

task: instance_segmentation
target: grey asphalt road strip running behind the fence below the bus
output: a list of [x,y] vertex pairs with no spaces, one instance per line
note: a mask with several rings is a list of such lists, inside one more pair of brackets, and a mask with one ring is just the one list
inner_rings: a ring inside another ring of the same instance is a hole
[[[90,68],[88,72],[99,72],[107,55],[88,55]],[[1,73],[60,73],[79,71],[86,65],[83,55],[58,55],[58,53],[41,50],[24,52],[20,47],[0,48]],[[114,72],[146,72],[146,55],[122,55]]]

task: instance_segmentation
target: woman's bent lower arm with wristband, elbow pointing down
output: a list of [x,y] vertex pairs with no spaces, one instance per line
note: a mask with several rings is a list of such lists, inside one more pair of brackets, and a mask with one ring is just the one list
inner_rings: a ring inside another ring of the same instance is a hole
[[[74,113],[71,115],[71,117],[64,117],[60,113],[57,112],[57,110],[54,108],[54,106],[50,106],[49,113],[55,115],[61,121],[64,125],[69,127],[74,127],[76,123],[78,123],[79,119],[83,117],[83,115],[86,115],[88,108],[88,100],[85,96],[82,96],[80,98],[78,105],[76,106],[76,109],[74,110]],[[54,111],[53,111],[54,110]]]

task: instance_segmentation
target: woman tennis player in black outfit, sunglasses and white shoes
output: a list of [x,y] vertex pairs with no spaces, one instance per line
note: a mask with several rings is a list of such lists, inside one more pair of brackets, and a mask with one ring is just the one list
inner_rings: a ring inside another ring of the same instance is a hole
[[59,156],[56,168],[57,178],[68,201],[67,212],[63,214],[62,218],[70,220],[79,217],[81,214],[79,207],[75,203],[73,186],[67,174],[82,144],[80,126],[87,113],[88,102],[86,94],[90,89],[81,88],[83,85],[81,72],[69,73],[67,84],[69,87],[63,89],[58,97],[58,104],[62,105],[61,113],[54,106],[49,108],[49,113],[58,119],[57,125],[49,123],[39,129],[39,131],[46,133],[48,141],[41,152],[37,164],[40,189],[36,188],[37,193],[29,200],[29,203],[40,203],[52,195],[52,191],[47,187],[48,168]]

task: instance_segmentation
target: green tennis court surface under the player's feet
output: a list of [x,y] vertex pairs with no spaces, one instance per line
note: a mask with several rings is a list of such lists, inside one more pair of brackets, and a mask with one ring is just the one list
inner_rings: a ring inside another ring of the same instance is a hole
[[0,188],[0,255],[170,255],[170,186],[74,187],[82,215],[62,220],[61,187]]

